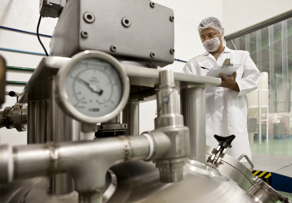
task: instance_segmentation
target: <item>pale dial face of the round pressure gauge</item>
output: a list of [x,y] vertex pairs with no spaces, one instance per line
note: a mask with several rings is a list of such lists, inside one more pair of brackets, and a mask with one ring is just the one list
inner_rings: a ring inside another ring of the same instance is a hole
[[87,58],[75,64],[66,76],[69,102],[79,112],[100,117],[121,101],[122,82],[116,69],[100,59]]

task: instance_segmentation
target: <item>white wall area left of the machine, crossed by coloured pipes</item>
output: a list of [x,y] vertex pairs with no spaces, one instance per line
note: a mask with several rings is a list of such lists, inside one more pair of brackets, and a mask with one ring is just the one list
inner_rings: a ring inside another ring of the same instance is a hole
[[[1,0],[0,6],[0,25],[19,30],[36,32],[39,19],[39,1],[38,0]],[[53,29],[58,19],[43,18],[40,23],[39,32],[52,35]],[[49,51],[50,38],[40,37],[47,51]],[[20,49],[25,51],[35,51],[44,53],[43,48],[38,42],[36,35],[14,32],[0,28],[0,47],[10,49]],[[42,56],[32,54],[21,54],[9,51],[0,51],[0,54],[6,59],[8,66],[36,68]],[[32,72],[8,70],[6,80],[27,82]],[[21,92],[24,86],[7,85],[6,91]],[[15,97],[5,96],[5,103],[1,110],[6,106],[12,106],[16,102]],[[13,145],[27,143],[27,132],[17,132],[16,129],[0,129],[0,142]]]

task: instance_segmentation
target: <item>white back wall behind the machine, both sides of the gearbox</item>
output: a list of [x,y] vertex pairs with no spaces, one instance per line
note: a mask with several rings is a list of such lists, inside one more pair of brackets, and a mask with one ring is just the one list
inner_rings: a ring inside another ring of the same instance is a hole
[[[0,25],[20,30],[36,32],[39,11],[38,0],[1,0]],[[194,56],[205,52],[197,33],[198,23],[205,17],[214,16],[222,19],[222,1],[210,0],[207,7],[204,1],[176,1],[157,0],[157,4],[169,7],[174,11],[175,17],[175,57],[181,60],[189,60]],[[24,6],[25,5],[25,6]],[[51,35],[58,19],[43,18],[40,24],[40,33]],[[49,51],[50,38],[41,37],[44,46]],[[35,51],[44,53],[36,35],[14,32],[0,28],[0,47],[20,49],[25,51]],[[31,54],[20,54],[9,51],[0,51],[6,59],[7,65],[18,67],[36,68],[42,56]],[[163,69],[171,68],[180,72],[184,67],[183,62],[174,62]],[[8,70],[6,80],[28,81],[31,72],[20,72]],[[6,91],[21,92],[24,86],[7,85]],[[6,102],[2,104],[2,109],[12,106],[16,102],[15,98],[6,96]],[[140,132],[154,129],[154,118],[156,111],[156,101],[140,104]],[[26,132],[19,133],[16,129],[0,129],[1,143],[13,145],[26,144]]]

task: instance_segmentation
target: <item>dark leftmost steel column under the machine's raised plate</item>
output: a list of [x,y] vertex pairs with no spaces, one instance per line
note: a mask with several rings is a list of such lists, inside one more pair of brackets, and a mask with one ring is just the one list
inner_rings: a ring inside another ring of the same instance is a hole
[[49,102],[28,102],[27,109],[27,144],[49,141]]

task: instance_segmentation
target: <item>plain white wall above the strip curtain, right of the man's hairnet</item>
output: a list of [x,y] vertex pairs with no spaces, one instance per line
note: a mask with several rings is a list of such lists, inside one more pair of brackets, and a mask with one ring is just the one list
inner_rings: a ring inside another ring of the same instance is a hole
[[222,0],[225,35],[267,20],[292,9],[291,0]]

